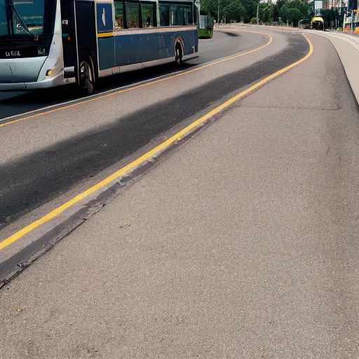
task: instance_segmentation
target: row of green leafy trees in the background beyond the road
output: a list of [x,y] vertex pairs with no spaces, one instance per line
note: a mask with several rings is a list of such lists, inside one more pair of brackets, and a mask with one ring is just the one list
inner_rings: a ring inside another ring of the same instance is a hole
[[306,0],[201,0],[201,13],[220,22],[257,22],[257,7],[260,23],[283,21],[298,26],[299,20],[309,21],[310,6]]

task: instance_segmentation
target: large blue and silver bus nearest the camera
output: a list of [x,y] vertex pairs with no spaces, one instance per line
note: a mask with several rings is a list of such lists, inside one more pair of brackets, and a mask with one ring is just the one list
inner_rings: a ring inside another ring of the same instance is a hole
[[194,0],[0,0],[0,90],[76,83],[198,52]]

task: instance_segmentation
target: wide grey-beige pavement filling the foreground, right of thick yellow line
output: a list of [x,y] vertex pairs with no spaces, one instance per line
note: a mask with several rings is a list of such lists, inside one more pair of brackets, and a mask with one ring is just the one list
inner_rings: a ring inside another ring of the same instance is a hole
[[1,359],[358,358],[358,111],[309,36],[0,291]]

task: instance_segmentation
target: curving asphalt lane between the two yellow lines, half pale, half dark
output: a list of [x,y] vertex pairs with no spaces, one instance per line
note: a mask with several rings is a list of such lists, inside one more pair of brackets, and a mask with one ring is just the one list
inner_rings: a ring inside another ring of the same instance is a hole
[[[266,36],[259,34],[216,34],[213,46],[221,43],[226,48],[221,55],[229,55],[266,42]],[[234,50],[238,43],[241,46]],[[205,60],[212,60],[211,43],[206,46]],[[295,62],[308,48],[302,36],[278,34],[276,44],[263,58],[253,53],[239,59],[233,68],[224,65],[221,72],[210,67],[206,69],[208,76],[200,72],[182,76],[191,81],[182,81],[179,86],[172,87],[175,81],[170,80],[161,83],[158,91],[134,90],[100,100],[98,106],[92,102],[1,128],[0,228],[69,189],[86,185],[112,165],[161,141],[168,131],[185,126],[201,111]]]

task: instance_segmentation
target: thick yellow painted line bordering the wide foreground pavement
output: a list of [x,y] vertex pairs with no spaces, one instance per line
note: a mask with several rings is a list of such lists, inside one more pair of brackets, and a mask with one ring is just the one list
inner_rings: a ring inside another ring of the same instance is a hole
[[264,84],[268,83],[272,79],[275,79],[276,77],[284,74],[288,70],[292,69],[293,67],[295,67],[295,66],[301,64],[302,62],[304,62],[305,60],[307,60],[313,53],[313,44],[304,34],[302,34],[302,36],[304,36],[306,41],[308,41],[308,43],[309,43],[309,52],[301,60],[298,60],[297,62],[294,62],[292,65],[284,67],[283,69],[280,69],[279,71],[275,72],[274,74],[271,74],[270,76],[266,77],[262,81],[255,83],[255,85],[251,86],[247,90],[244,90],[241,93],[238,93],[237,95],[235,95],[234,97],[231,97],[231,99],[227,100],[226,102],[219,105],[215,109],[212,109],[212,111],[208,112],[208,114],[205,114],[201,118],[198,118],[198,120],[191,123],[191,125],[187,126],[187,128],[184,128],[183,130],[179,131],[179,133],[177,133],[176,135],[173,135],[168,140],[166,140],[165,142],[162,142],[154,149],[151,149],[151,151],[147,152],[147,154],[144,154],[140,158],[137,158],[137,160],[133,161],[132,163],[129,163],[125,167],[114,172],[112,175],[105,178],[101,182],[95,184],[95,186],[90,187],[90,189],[87,189],[82,194],[79,194],[76,197],[72,198],[70,201],[64,203],[63,205],[60,205],[60,207],[58,207],[55,210],[53,210],[52,212],[48,213],[44,217],[37,219],[35,222],[32,222],[32,224],[29,224],[28,226],[25,226],[25,228],[21,229],[20,231],[14,233],[12,236],[6,238],[4,241],[0,242],[0,250],[6,248],[8,245],[11,245],[11,243],[18,241],[18,239],[22,238],[23,236],[25,236],[27,233],[29,233],[33,229],[36,229],[39,226],[41,226],[42,224],[45,224],[46,222],[50,221],[50,219],[53,219],[57,215],[60,215],[60,213],[67,210],[67,208],[70,208],[75,203],[78,203],[79,201],[81,201],[81,199],[85,198],[86,196],[89,196],[90,194],[93,194],[95,191],[104,188],[105,186],[107,186],[107,184],[111,183],[116,178],[125,175],[126,173],[130,172],[131,170],[134,170],[135,168],[142,165],[146,161],[149,161],[151,158],[156,156],[156,154],[158,154],[161,151],[163,151],[164,149],[170,147],[171,144],[174,144],[178,140],[181,140],[186,135],[189,135],[189,133],[191,133],[193,130],[195,130],[199,126],[203,126],[210,118],[219,114],[219,112],[223,111],[224,109],[229,107],[234,102],[240,100],[242,97],[252,93],[252,91],[256,90],[257,88],[263,86]]

